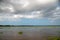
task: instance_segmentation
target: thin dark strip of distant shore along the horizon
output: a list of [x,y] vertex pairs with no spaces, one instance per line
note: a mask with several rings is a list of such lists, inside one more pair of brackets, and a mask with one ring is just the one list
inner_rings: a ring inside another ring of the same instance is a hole
[[0,27],[60,27],[60,25],[0,25]]

